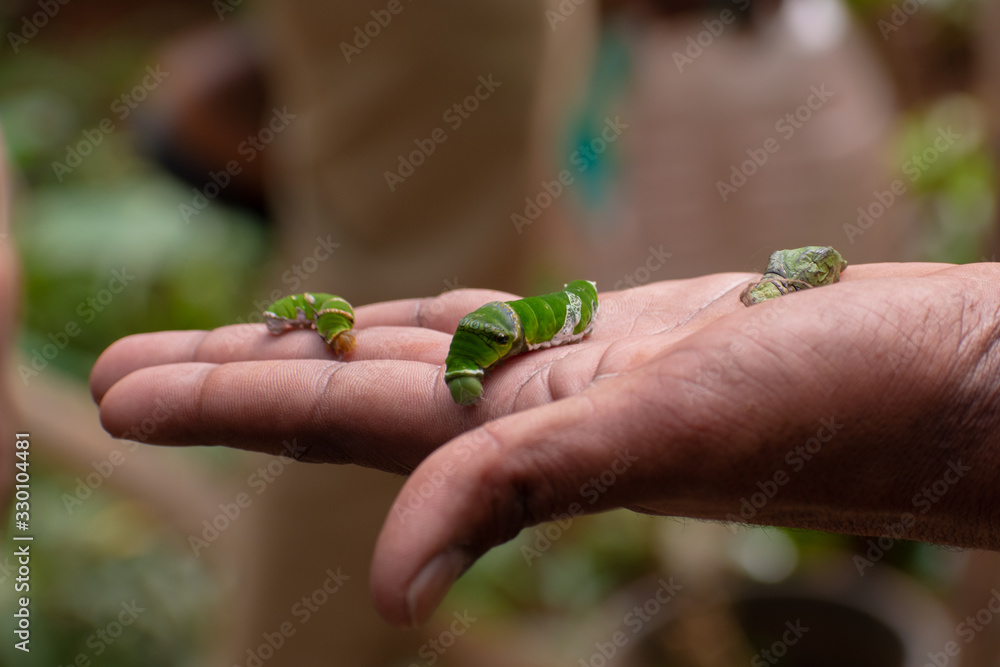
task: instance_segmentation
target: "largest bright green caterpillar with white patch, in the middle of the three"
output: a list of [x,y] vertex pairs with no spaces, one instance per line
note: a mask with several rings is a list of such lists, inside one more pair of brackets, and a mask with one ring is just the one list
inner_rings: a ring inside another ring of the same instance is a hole
[[594,328],[597,285],[574,280],[562,292],[492,301],[461,319],[445,359],[444,380],[459,405],[475,405],[482,378],[499,361],[530,350],[578,343]]

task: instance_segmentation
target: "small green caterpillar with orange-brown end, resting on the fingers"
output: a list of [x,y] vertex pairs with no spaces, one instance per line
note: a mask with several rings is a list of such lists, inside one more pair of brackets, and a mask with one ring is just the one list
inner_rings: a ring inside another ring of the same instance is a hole
[[316,329],[334,352],[344,354],[354,349],[357,339],[354,309],[334,294],[305,292],[279,299],[264,311],[267,330],[278,335],[289,329]]

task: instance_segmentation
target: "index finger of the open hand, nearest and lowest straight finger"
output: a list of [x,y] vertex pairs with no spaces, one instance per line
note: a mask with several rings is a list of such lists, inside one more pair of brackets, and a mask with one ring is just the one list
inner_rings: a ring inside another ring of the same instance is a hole
[[116,382],[100,416],[117,438],[225,445],[406,473],[484,418],[451,400],[442,373],[439,366],[395,360],[153,366]]

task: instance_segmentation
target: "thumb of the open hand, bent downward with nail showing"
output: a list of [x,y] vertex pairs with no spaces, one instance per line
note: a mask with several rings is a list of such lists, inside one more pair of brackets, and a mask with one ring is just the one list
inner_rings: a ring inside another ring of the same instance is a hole
[[622,504],[631,485],[616,482],[639,457],[624,444],[636,440],[623,433],[623,393],[608,391],[617,379],[489,422],[421,463],[375,549],[371,589],[386,620],[423,623],[477,558],[526,526]]

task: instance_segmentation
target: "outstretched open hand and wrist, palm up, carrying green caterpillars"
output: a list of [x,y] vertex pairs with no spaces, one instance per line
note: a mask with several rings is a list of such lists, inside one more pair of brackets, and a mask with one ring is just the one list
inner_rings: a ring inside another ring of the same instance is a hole
[[308,461],[412,473],[371,575],[400,626],[426,620],[482,553],[574,503],[723,520],[777,471],[788,479],[754,522],[874,536],[909,514],[908,539],[1000,548],[1000,266],[851,266],[837,285],[747,308],[752,278],[604,293],[590,337],[508,361],[474,408],[443,381],[450,336],[511,295],[358,308],[346,363],[313,332],[263,325],[131,336],[98,360],[91,390],[113,435],[159,400],[156,444],[279,452],[294,437]]

